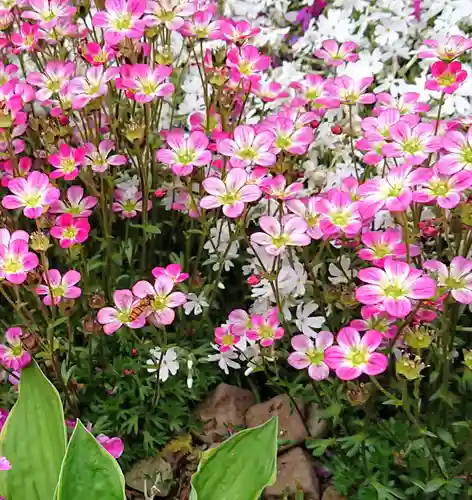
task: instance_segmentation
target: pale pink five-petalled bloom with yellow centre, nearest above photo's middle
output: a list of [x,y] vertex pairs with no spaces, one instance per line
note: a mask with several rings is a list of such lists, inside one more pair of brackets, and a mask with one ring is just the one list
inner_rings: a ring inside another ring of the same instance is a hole
[[218,177],[207,177],[202,185],[210,195],[200,200],[200,206],[206,209],[223,207],[227,217],[239,217],[246,203],[257,201],[262,196],[258,186],[247,184],[247,177],[242,168],[232,168],[224,182]]

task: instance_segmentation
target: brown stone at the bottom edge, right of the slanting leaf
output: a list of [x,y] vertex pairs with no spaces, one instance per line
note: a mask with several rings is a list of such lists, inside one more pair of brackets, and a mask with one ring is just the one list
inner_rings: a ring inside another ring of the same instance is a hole
[[296,447],[277,459],[277,480],[265,489],[264,498],[275,500],[303,491],[304,500],[319,500],[320,485],[311,457]]

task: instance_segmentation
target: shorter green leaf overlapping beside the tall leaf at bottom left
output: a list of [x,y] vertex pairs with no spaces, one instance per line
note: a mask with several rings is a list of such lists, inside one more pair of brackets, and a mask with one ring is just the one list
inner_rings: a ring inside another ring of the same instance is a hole
[[56,500],[125,500],[125,480],[117,461],[80,420],[67,447]]

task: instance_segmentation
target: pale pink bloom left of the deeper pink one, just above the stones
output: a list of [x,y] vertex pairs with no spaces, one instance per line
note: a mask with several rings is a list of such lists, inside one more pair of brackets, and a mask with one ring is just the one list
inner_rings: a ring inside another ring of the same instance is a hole
[[306,335],[295,335],[292,337],[292,352],[287,362],[297,370],[308,368],[308,375],[313,380],[324,380],[329,376],[329,367],[325,363],[325,351],[333,345],[333,334],[331,332],[320,332],[316,336],[315,343]]

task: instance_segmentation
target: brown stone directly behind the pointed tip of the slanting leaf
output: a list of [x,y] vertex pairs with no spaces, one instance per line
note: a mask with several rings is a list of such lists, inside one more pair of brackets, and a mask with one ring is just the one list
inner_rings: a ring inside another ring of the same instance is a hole
[[[297,405],[302,417],[305,418],[304,406],[301,401],[297,401]],[[293,441],[293,443],[286,445],[285,449],[296,443],[301,443],[308,437],[303,419],[287,394],[281,394],[265,403],[259,403],[249,408],[246,413],[246,425],[247,427],[256,427],[267,422],[274,415],[279,417],[279,439]]]

